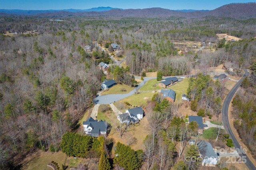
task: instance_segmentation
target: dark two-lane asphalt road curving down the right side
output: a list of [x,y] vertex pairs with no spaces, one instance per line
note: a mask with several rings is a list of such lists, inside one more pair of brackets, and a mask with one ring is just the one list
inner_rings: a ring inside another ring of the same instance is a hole
[[[249,76],[249,72],[247,72],[246,70],[244,70],[246,73],[246,76]],[[244,76],[245,77],[245,76]],[[236,140],[236,137],[234,136],[229,122],[228,122],[228,106],[232,100],[232,97],[234,96],[234,94],[236,93],[236,90],[239,88],[239,86],[241,85],[242,81],[244,80],[244,77],[241,78],[236,85],[230,90],[230,92],[228,93],[228,96],[225,98],[224,103],[223,103],[223,107],[222,107],[222,121],[223,121],[223,125],[224,128],[226,129],[226,131],[228,132],[228,134],[230,135],[230,138],[232,139],[235,148],[240,149],[240,144],[238,143],[238,141]],[[239,153],[239,155],[242,157],[244,156],[245,160],[246,160],[246,166],[250,169],[250,170],[256,170],[256,167],[254,166],[254,164],[252,164],[251,160],[248,158],[248,156],[246,155],[246,153]],[[243,157],[242,157],[243,158]]]

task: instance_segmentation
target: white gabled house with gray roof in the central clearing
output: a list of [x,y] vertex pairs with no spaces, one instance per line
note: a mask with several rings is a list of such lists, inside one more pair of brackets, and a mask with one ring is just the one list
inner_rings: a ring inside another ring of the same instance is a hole
[[126,110],[126,113],[122,113],[117,116],[117,119],[121,123],[138,123],[139,119],[143,118],[144,111],[142,107],[134,107]]

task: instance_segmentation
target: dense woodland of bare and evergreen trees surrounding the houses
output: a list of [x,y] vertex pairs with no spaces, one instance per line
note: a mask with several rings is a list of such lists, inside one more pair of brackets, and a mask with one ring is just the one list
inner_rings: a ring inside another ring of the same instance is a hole
[[[66,154],[74,155],[65,151],[62,136],[66,132],[76,132],[78,120],[93,105],[92,99],[105,78],[98,63],[112,63],[109,55],[100,51],[96,43],[118,43],[124,48],[122,55],[126,57],[127,67],[110,67],[110,76],[118,83],[134,86],[136,82],[131,75],[140,76],[142,72],[187,75],[192,69],[200,69],[202,74],[190,78],[187,94],[192,109],[208,116],[220,114],[224,87],[205,75],[206,68],[229,62],[234,68],[233,74],[240,75],[243,68],[249,68],[255,62],[256,20],[253,18],[71,16],[62,19],[64,21],[58,22],[50,21],[48,17],[0,17],[0,167],[18,166],[36,149],[58,151],[61,147]],[[32,34],[19,34],[33,30],[36,31]],[[3,34],[6,31],[18,34],[6,36]],[[224,44],[218,41],[216,33],[230,33],[243,40]],[[172,40],[213,42],[216,51],[195,54],[190,49],[180,55]],[[85,45],[91,45],[93,52],[84,51]],[[233,105],[238,107],[234,114],[239,121],[235,126],[253,152],[255,140],[250,136],[256,136],[255,73],[248,81],[250,83],[244,85]],[[248,95],[244,95],[245,92]],[[198,162],[177,162],[190,137],[197,137],[197,127],[186,127],[183,119],[175,117],[175,105],[160,102],[156,96],[152,101],[148,120],[155,126],[149,127],[151,133],[144,139],[143,153],[123,144],[118,144],[116,152],[121,155],[125,154],[122,149],[129,150],[137,162],[136,169],[142,166],[142,160],[148,169],[198,168]],[[84,157],[84,152],[91,151],[92,157],[98,159],[96,162],[107,161],[110,157],[104,142],[97,141],[102,139],[71,138],[89,143],[86,150],[76,150],[77,156]],[[109,141],[105,143],[108,145]],[[105,152],[103,149],[95,151],[94,145],[101,145]],[[191,153],[198,156],[198,148],[187,149],[186,154]],[[116,169],[132,169],[126,167],[129,165],[124,164],[121,156],[116,156],[113,161]],[[113,166],[102,166],[104,168]]]

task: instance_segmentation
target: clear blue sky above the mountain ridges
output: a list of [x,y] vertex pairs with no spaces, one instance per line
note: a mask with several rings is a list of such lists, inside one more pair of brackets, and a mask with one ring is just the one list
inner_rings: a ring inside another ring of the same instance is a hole
[[[112,3],[113,2],[113,3]],[[61,10],[88,9],[99,6],[137,9],[161,7],[170,10],[213,10],[224,4],[247,0],[0,0],[0,9]]]

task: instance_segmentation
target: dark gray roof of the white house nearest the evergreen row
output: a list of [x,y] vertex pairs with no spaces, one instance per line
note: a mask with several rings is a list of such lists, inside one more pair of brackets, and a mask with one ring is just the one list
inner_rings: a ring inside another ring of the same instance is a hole
[[89,117],[86,121],[83,121],[83,125],[87,125],[87,127],[92,127],[92,134],[106,132],[108,128],[108,123],[106,121],[96,121],[92,119],[92,117]]

